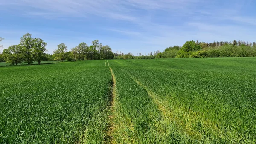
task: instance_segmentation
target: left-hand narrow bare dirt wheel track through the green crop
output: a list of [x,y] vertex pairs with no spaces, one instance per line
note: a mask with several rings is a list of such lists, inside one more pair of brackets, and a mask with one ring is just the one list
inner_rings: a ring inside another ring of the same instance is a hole
[[[109,65],[109,63],[108,63]],[[115,74],[113,73],[113,70],[111,69],[111,67],[109,67],[110,71],[111,71],[111,75],[112,75],[112,84],[111,84],[111,98],[110,98],[110,110],[111,110],[111,115],[109,115],[109,126],[108,126],[108,131],[107,131],[107,135],[105,138],[105,141],[107,144],[112,144],[113,143],[113,131],[114,131],[114,107],[115,107],[115,97],[116,97],[116,77]]]

